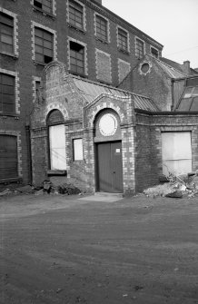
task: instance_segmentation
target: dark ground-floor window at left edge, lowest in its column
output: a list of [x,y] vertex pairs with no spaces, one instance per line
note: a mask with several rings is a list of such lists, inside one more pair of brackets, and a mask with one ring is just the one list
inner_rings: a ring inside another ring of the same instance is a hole
[[17,137],[0,135],[0,180],[17,177],[17,163]]

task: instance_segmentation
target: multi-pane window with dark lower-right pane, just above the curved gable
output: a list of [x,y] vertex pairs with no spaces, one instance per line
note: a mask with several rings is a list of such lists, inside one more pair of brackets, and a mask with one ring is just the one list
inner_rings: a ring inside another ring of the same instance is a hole
[[53,61],[54,34],[35,27],[35,61],[48,64]]

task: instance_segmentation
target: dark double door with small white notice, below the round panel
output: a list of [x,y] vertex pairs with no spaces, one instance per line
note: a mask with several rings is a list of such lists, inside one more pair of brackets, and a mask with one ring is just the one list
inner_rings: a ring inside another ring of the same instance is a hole
[[122,142],[97,144],[98,191],[123,192]]

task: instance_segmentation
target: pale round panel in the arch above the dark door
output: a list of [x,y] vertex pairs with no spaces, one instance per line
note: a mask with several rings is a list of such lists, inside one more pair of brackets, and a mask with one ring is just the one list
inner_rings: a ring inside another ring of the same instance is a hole
[[111,113],[104,114],[99,122],[99,130],[104,136],[114,135],[117,130],[116,117]]

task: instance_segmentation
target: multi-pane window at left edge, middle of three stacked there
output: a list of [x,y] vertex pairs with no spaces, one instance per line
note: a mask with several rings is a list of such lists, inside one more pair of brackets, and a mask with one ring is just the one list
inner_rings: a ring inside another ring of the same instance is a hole
[[15,113],[15,77],[0,74],[0,113]]

